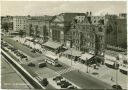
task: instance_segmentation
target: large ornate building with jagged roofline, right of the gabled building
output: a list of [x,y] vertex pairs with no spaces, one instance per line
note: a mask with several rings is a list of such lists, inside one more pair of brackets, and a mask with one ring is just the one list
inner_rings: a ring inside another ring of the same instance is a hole
[[103,56],[105,51],[104,16],[76,16],[71,24],[70,31],[66,34],[66,46],[82,52]]

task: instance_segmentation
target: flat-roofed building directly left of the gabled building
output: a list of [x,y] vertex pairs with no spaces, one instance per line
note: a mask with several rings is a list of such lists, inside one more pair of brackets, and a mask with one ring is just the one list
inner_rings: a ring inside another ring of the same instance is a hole
[[49,21],[51,16],[29,16],[26,33],[28,36],[40,37],[48,40]]

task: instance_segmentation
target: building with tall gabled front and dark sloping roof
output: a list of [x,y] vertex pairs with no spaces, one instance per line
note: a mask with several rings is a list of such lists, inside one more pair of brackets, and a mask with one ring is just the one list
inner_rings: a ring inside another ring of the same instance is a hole
[[77,15],[85,15],[85,13],[61,13],[56,15],[50,23],[51,39],[65,44],[66,33],[70,29],[71,21]]

